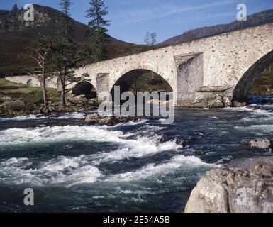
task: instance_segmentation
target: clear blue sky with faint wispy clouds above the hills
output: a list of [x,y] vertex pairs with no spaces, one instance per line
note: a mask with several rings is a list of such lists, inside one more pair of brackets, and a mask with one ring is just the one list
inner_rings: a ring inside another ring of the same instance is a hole
[[[0,0],[0,9],[27,3],[60,9],[59,0]],[[272,0],[105,0],[109,35],[129,43],[143,43],[147,31],[157,33],[160,43],[184,31],[203,26],[229,23],[236,19],[236,6],[247,5],[247,14],[273,9]],[[87,23],[88,0],[72,0],[71,16]]]

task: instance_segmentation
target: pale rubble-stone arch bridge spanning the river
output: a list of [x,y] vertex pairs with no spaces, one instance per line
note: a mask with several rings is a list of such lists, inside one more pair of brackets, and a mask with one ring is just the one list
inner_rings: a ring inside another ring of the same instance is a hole
[[[85,65],[76,73],[88,73],[97,92],[110,92],[123,75],[133,77],[151,70],[169,83],[179,106],[211,93],[245,101],[252,83],[269,62],[273,62],[273,23]],[[39,84],[27,76],[6,79]],[[48,86],[56,87],[56,82],[48,82]]]

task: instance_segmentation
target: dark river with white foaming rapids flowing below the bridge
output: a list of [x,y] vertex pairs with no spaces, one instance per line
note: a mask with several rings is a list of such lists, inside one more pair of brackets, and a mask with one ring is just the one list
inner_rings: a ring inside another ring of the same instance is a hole
[[[0,118],[0,211],[183,211],[204,172],[270,155],[244,143],[272,138],[272,106],[176,109],[169,126],[155,119],[87,126],[87,114]],[[166,131],[189,143],[158,143]],[[23,204],[26,188],[34,206]]]

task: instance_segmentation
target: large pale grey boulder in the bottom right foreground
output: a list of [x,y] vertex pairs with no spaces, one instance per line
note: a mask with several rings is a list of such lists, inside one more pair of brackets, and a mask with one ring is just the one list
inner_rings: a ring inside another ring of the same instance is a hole
[[186,213],[273,213],[273,156],[233,160],[206,172]]

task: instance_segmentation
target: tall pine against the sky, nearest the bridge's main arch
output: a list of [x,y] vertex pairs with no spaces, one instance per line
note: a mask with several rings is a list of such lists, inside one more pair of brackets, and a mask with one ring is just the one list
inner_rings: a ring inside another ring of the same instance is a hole
[[87,18],[91,18],[88,23],[89,28],[91,28],[91,31],[88,31],[89,48],[91,49],[92,59],[94,62],[98,62],[106,59],[105,44],[110,41],[106,27],[110,25],[110,21],[104,19],[104,16],[108,14],[104,0],[91,0],[89,4],[91,6],[86,11]]

